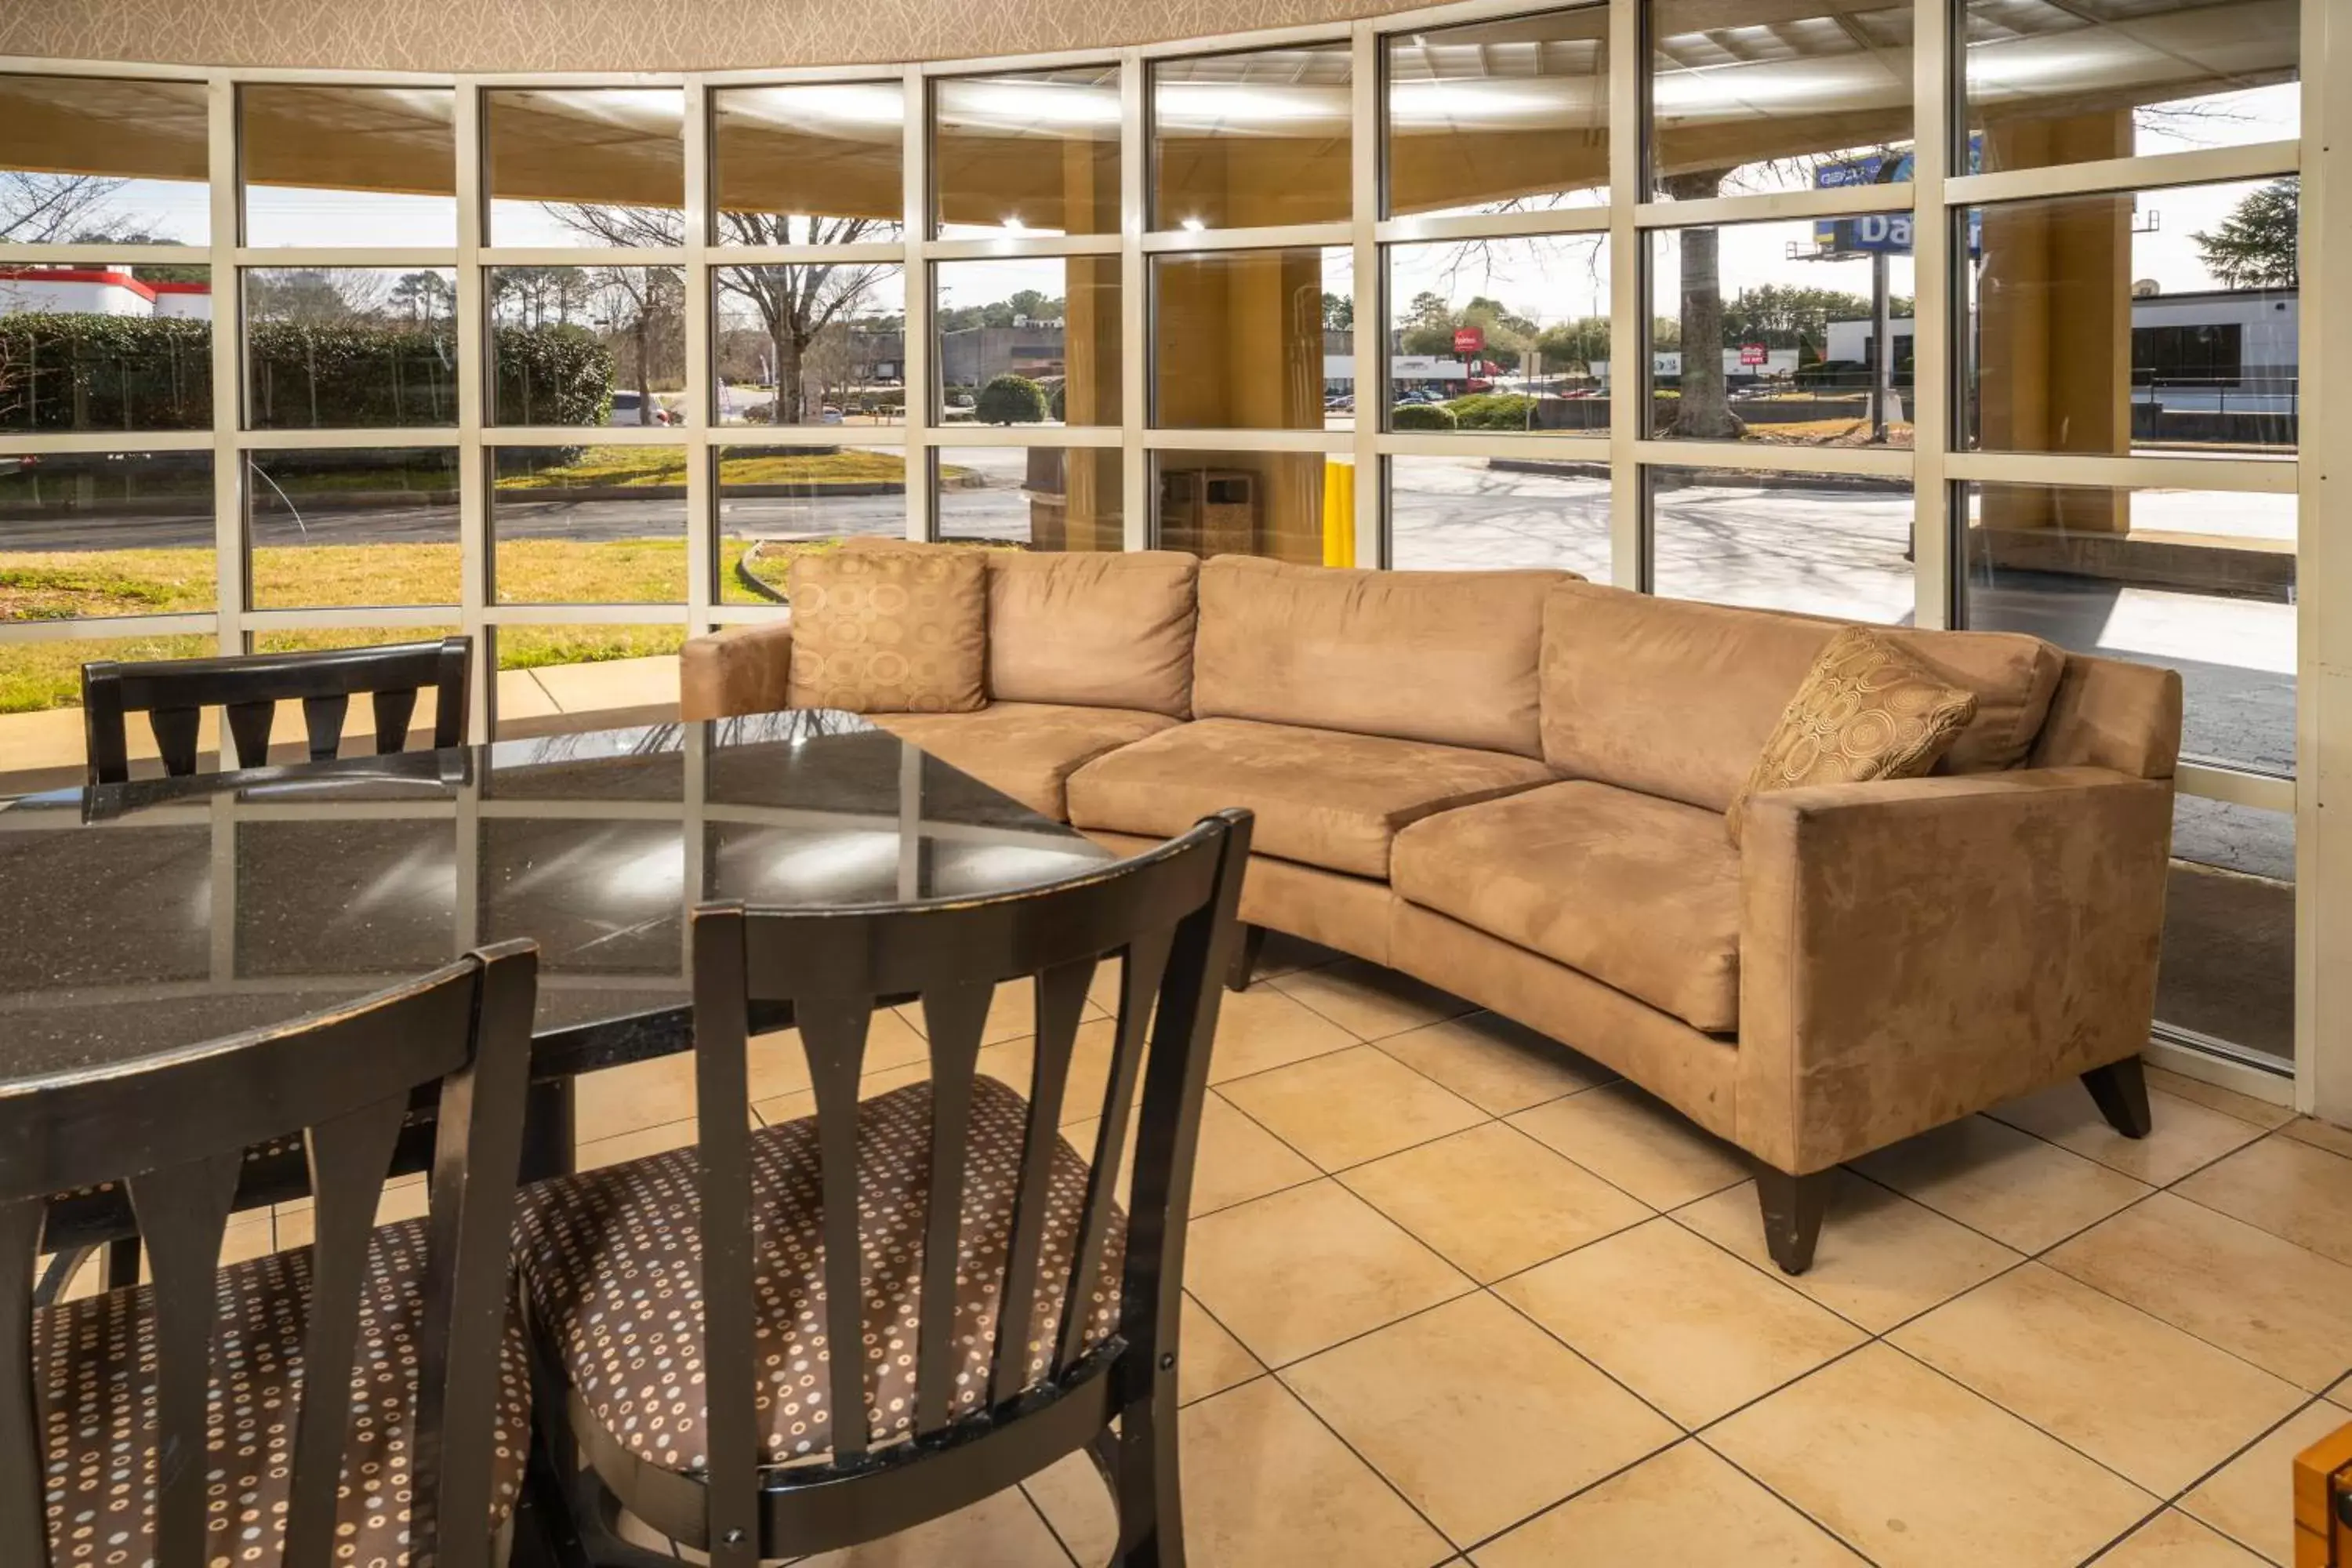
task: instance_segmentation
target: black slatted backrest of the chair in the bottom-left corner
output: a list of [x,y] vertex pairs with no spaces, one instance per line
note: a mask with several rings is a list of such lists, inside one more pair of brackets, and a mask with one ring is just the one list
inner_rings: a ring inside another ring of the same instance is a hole
[[536,966],[532,943],[503,943],[282,1027],[0,1091],[0,1561],[52,1561],[33,1262],[47,1197],[101,1180],[125,1180],[153,1272],[155,1561],[209,1561],[221,1232],[245,1150],[289,1133],[310,1154],[315,1241],[280,1561],[332,1559],[376,1201],[414,1093],[437,1084],[412,1561],[487,1563]]

